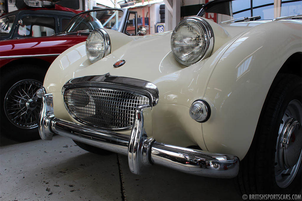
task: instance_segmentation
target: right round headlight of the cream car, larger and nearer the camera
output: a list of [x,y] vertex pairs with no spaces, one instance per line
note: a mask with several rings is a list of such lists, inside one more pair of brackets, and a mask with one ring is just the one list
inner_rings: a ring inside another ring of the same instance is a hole
[[213,30],[201,17],[182,20],[171,36],[172,52],[177,61],[185,66],[210,56],[213,46]]

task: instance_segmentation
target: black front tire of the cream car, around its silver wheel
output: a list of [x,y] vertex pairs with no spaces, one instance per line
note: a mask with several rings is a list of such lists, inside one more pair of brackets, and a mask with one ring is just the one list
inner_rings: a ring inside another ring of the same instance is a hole
[[[251,147],[240,162],[235,181],[241,194],[299,194],[301,163],[293,181],[280,188],[275,178],[275,153],[279,127],[291,100],[301,103],[301,77],[278,74],[265,99]],[[300,122],[301,123],[301,122]]]

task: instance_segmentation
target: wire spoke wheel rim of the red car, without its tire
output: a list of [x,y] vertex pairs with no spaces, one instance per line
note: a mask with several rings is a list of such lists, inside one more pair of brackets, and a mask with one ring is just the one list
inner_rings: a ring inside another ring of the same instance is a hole
[[41,86],[38,80],[26,79],[15,83],[6,93],[5,115],[16,127],[32,129],[38,126],[41,99],[34,101],[32,98]]

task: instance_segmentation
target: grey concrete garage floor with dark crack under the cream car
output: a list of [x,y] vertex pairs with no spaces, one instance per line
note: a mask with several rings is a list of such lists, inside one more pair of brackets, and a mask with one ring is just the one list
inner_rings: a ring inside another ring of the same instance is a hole
[[230,179],[157,165],[134,175],[126,156],[96,155],[62,136],[3,142],[2,137],[0,200],[242,200]]

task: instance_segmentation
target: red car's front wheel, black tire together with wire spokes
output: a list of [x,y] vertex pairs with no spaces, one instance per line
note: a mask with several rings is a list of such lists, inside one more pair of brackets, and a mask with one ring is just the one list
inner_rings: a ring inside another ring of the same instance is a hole
[[41,100],[28,106],[26,103],[43,85],[46,72],[46,68],[35,64],[16,64],[0,68],[1,135],[16,141],[40,139],[37,119]]

